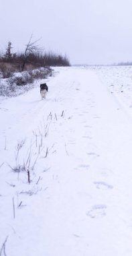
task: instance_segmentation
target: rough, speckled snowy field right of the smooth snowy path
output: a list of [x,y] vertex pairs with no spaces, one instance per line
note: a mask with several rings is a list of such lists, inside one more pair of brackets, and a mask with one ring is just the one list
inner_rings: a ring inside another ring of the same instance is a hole
[[132,115],[132,66],[96,67],[101,82],[109,87],[111,93],[121,102],[127,113]]

